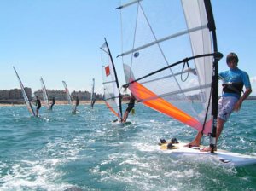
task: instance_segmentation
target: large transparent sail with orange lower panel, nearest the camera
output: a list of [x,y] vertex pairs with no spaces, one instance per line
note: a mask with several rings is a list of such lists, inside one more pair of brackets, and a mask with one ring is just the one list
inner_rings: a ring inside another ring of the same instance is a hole
[[123,87],[144,105],[211,132],[213,61],[222,55],[212,49],[205,1],[144,0],[120,11]]

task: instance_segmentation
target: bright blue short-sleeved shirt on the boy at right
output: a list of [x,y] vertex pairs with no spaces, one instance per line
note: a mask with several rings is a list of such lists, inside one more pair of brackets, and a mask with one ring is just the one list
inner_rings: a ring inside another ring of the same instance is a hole
[[[241,71],[238,67],[236,67],[236,69],[221,72],[218,75],[224,80],[224,83],[243,83],[246,88],[251,88],[251,83],[247,72]],[[225,92],[223,96],[235,96],[238,99],[240,98],[240,95],[236,93]]]

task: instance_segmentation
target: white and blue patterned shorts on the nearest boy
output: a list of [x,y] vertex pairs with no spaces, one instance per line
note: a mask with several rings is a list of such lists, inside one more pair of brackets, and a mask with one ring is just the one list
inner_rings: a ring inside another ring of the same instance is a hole
[[236,101],[238,101],[238,98],[234,96],[221,97],[218,100],[218,118],[227,121],[233,112]]

